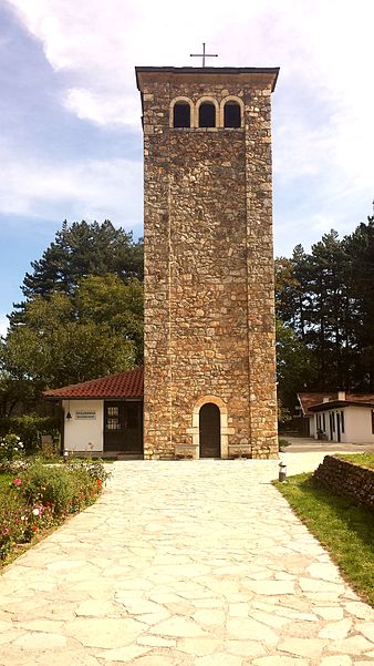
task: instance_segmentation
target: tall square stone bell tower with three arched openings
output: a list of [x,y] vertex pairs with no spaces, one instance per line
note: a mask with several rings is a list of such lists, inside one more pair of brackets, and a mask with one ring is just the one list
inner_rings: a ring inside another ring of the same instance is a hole
[[136,68],[145,458],[278,455],[270,126],[277,76],[277,68]]

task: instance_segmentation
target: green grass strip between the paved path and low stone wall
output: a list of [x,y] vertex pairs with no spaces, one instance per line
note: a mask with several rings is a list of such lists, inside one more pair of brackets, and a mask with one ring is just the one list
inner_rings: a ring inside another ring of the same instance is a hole
[[374,514],[316,488],[311,479],[312,474],[298,474],[273,483],[330,552],[345,581],[374,606]]

